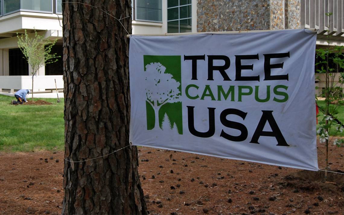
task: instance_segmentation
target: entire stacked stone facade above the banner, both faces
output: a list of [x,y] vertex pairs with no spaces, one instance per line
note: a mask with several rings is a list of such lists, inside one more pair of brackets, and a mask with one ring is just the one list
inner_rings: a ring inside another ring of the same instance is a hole
[[299,28],[300,0],[198,0],[197,32]]

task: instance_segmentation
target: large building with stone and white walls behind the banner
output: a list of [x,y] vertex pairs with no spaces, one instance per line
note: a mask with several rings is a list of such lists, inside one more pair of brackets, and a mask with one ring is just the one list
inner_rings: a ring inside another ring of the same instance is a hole
[[[133,34],[316,28],[317,46],[344,45],[343,0],[131,0]],[[96,10],[96,9],[95,9]],[[326,12],[332,12],[330,18]],[[62,56],[62,0],[0,0],[0,92],[31,89],[31,71],[17,45],[17,33],[35,30],[58,38]],[[42,67],[35,91],[62,92],[62,58]],[[316,83],[320,90],[323,82]]]

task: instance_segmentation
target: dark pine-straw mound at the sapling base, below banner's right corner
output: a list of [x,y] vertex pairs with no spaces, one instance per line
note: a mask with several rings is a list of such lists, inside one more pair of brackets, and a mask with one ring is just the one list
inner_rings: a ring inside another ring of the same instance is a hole
[[[338,170],[338,172],[343,172]],[[295,172],[283,178],[279,185],[293,187],[294,192],[302,191],[320,191],[326,190],[338,195],[344,192],[344,175],[327,172],[327,179],[324,180],[324,171],[302,170]]]

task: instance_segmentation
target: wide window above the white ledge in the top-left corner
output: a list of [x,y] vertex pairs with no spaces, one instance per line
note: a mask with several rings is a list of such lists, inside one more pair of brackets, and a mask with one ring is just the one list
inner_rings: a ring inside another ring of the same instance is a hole
[[4,14],[17,11],[52,13],[52,0],[3,0]]

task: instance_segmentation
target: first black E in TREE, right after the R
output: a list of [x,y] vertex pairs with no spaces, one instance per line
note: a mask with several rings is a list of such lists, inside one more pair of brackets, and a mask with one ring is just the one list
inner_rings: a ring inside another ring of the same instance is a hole
[[236,81],[259,81],[259,76],[241,76],[241,70],[250,69],[253,70],[252,65],[241,65],[241,60],[257,59],[259,60],[258,54],[256,55],[235,55],[235,80]]

